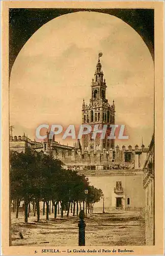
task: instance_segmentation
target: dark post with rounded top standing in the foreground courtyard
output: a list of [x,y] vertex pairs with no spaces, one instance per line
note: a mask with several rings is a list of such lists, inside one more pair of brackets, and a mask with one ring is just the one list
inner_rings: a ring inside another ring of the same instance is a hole
[[79,219],[80,221],[78,222],[78,246],[85,246],[85,228],[86,228],[86,223],[84,222],[85,218],[85,213],[84,210],[80,210],[79,212]]

